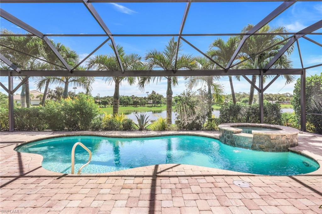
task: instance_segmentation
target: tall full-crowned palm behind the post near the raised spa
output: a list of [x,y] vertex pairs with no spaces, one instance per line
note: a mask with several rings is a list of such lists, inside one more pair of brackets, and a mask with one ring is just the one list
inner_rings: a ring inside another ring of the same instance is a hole
[[[246,26],[242,32],[248,32],[253,25],[249,24]],[[265,25],[262,27],[258,33],[285,33],[287,32],[285,30],[285,27],[277,27],[277,28],[271,28],[269,25]],[[241,50],[242,54],[239,56],[239,59],[244,60],[245,58],[252,57],[249,60],[246,60],[243,62],[240,66],[240,68],[250,68],[250,69],[258,69],[265,67],[269,61],[277,54],[277,52],[284,46],[284,44],[287,42],[282,42],[279,45],[276,45],[272,47],[271,49],[268,49],[267,51],[264,51],[263,53],[260,53],[256,56],[254,56],[256,53],[272,46],[273,44],[277,44],[278,42],[286,39],[286,35],[255,35],[249,37],[245,44],[243,45],[243,48]],[[292,61],[287,57],[287,55],[291,54],[294,47],[290,47],[286,54],[282,55],[279,60],[276,61],[276,63],[271,68],[290,68],[292,67]],[[289,84],[295,80],[295,77],[292,75],[283,75],[283,77],[286,79],[286,84]],[[265,75],[264,78],[267,78]],[[256,84],[257,75],[253,75],[251,78],[251,81]],[[251,85],[250,93],[249,93],[249,101],[248,104],[252,104],[254,98],[254,87]],[[258,96],[259,98],[259,96]]]

